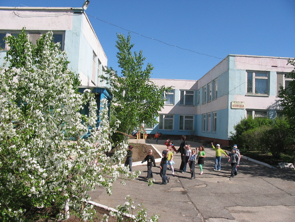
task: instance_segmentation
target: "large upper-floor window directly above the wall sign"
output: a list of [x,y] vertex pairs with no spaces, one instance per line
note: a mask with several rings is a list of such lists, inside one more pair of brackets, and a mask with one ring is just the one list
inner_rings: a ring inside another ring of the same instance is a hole
[[268,95],[268,73],[247,72],[247,94]]

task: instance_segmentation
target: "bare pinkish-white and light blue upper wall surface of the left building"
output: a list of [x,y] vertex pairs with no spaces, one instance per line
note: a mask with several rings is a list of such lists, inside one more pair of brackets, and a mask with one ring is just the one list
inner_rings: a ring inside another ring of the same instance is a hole
[[[91,82],[93,51],[102,66],[107,57],[81,8],[0,7],[0,29],[20,31],[61,31],[64,33],[64,51],[70,64],[68,68],[79,74],[82,86],[95,86]],[[1,52],[1,57],[5,52]],[[1,61],[0,61],[1,62]],[[97,73],[96,61],[96,73]],[[95,83],[97,83],[97,75]]]

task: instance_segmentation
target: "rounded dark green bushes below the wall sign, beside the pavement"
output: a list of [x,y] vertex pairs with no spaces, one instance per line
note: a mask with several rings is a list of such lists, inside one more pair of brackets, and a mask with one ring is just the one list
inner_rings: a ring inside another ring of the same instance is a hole
[[241,151],[271,153],[275,159],[282,153],[295,157],[295,137],[287,118],[242,119],[234,129],[230,141]]

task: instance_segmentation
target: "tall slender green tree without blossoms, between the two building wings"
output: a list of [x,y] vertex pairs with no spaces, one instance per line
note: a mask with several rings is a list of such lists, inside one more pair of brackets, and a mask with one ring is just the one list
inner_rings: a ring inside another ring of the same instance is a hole
[[[127,39],[123,34],[117,34],[117,37],[117,58],[122,75],[118,75],[117,71],[110,67],[106,70],[107,76],[101,78],[107,81],[113,94],[111,112],[121,122],[118,131],[130,134],[142,123],[157,123],[155,118],[164,106],[163,94],[171,88],[159,87],[150,81],[154,68],[148,63],[143,69],[145,57],[142,56],[142,51],[132,55],[134,44],[130,44],[130,35]],[[113,137],[114,142],[123,139],[122,133],[115,133]]]

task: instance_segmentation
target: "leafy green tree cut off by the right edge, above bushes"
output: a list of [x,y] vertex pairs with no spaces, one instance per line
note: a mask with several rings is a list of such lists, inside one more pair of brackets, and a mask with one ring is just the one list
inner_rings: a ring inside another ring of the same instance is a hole
[[292,78],[293,81],[289,83],[289,86],[284,88],[280,86],[280,91],[278,97],[280,98],[281,106],[283,107],[283,115],[286,116],[290,125],[295,129],[295,59],[288,60],[287,64],[291,64],[294,66],[294,70],[292,70],[288,75],[289,78]]

